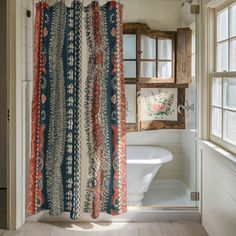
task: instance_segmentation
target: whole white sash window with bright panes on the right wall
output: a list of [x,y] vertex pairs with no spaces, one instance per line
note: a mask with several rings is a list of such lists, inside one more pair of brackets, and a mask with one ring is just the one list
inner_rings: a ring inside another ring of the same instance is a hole
[[211,75],[211,140],[236,147],[236,2],[216,10],[215,72]]

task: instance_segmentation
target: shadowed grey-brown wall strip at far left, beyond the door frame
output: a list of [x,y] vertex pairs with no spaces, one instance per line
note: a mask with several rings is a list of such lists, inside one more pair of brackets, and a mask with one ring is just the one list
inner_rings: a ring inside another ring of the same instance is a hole
[[6,188],[7,78],[6,78],[6,1],[0,1],[0,188]]

